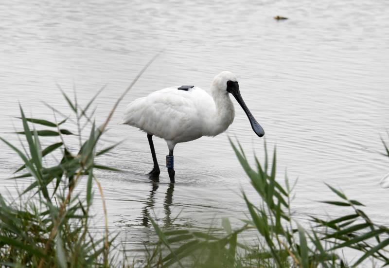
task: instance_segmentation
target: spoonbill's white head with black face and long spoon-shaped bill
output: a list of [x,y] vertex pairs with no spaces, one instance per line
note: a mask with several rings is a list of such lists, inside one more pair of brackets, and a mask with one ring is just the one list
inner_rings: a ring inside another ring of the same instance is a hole
[[250,110],[243,101],[239,90],[238,78],[235,74],[230,71],[222,71],[221,73],[216,75],[215,78],[213,78],[212,88],[218,94],[231,93],[232,96],[235,97],[239,105],[242,107],[242,109],[245,111],[248,120],[250,121],[251,128],[252,130],[254,130],[255,134],[257,134],[259,137],[265,135],[264,129],[261,125],[259,125],[257,120],[255,120],[254,116],[251,114]]

